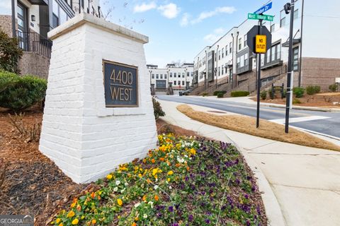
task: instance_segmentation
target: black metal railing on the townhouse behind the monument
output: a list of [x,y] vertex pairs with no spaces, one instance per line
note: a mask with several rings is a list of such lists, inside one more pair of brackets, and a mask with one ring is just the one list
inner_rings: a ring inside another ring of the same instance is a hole
[[22,32],[16,30],[18,47],[26,52],[37,52],[38,54],[51,58],[52,41],[42,37],[35,32]]

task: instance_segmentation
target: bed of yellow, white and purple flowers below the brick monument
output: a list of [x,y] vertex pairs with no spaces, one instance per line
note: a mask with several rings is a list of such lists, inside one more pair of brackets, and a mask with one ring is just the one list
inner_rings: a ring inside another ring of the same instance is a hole
[[160,135],[159,148],[145,159],[120,165],[96,184],[51,223],[266,225],[255,179],[227,143]]

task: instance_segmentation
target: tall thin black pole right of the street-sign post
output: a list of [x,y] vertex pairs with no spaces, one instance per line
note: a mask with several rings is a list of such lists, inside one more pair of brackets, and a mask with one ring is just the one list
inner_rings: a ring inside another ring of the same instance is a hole
[[289,130],[289,109],[290,109],[290,98],[292,96],[292,87],[290,86],[292,81],[292,56],[293,56],[293,28],[294,28],[294,2],[295,0],[291,0],[291,3],[285,4],[283,7],[285,9],[285,14],[290,13],[290,31],[289,31],[289,49],[288,49],[288,72],[287,72],[287,95],[285,102],[285,133],[288,133]]

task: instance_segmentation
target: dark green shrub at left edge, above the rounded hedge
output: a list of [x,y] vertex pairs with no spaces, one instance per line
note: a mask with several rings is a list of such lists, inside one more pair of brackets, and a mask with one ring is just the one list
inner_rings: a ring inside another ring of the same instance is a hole
[[0,30],[0,69],[18,73],[18,60],[23,51],[18,47],[18,40],[9,37]]

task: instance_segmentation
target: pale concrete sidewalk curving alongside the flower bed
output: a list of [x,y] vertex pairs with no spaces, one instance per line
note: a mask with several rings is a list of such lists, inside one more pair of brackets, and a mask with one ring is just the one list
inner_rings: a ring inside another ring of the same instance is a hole
[[179,103],[159,102],[166,112],[162,119],[170,124],[239,147],[258,178],[270,225],[340,225],[339,152],[220,129],[186,117],[176,109]]

